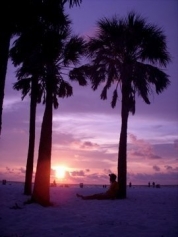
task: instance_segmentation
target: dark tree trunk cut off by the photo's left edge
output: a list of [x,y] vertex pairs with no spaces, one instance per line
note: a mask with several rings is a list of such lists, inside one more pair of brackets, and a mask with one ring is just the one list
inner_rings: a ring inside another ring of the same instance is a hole
[[1,29],[0,37],[0,134],[2,130],[2,111],[4,100],[4,88],[7,72],[7,63],[9,57],[11,33],[8,32],[8,26],[6,29]]

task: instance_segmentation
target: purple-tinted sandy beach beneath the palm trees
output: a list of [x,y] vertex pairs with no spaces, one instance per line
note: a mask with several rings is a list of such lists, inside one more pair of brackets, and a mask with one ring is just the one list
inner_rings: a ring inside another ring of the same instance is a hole
[[54,206],[26,204],[23,184],[0,185],[0,237],[177,237],[178,187],[133,186],[125,200],[82,200],[102,186],[51,187]]

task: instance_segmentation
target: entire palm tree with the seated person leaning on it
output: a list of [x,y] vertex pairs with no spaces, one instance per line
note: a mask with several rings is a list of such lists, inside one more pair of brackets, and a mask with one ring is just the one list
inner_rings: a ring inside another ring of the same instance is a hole
[[[89,40],[90,64],[75,70],[72,77],[89,76],[93,90],[105,84],[101,99],[115,85],[112,108],[121,90],[121,131],[118,151],[118,198],[126,198],[127,184],[127,124],[129,112],[135,113],[136,96],[150,104],[149,95],[160,94],[170,84],[163,68],[170,62],[166,37],[155,25],[134,12],[126,18],[101,19],[96,35]],[[80,73],[79,73],[80,72]],[[78,75],[77,75],[78,73]]]

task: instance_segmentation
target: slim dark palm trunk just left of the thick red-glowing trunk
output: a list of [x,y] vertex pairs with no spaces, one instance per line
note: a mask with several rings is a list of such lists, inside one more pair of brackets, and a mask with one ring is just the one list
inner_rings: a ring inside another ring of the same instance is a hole
[[26,163],[26,175],[24,194],[31,195],[32,193],[32,177],[33,177],[33,162],[35,149],[35,121],[36,121],[36,106],[37,106],[37,84],[36,78],[32,80],[31,102],[30,102],[30,126],[29,126],[29,145]]

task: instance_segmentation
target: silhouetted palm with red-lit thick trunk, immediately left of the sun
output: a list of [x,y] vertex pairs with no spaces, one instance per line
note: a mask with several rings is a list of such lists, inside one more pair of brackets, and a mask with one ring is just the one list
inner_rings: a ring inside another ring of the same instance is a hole
[[[45,64],[45,112],[41,128],[37,170],[32,194],[33,201],[45,206],[50,204],[49,187],[53,107],[55,109],[58,107],[57,97],[64,98],[72,95],[72,87],[65,80],[66,75],[63,75],[63,70],[64,68],[68,68],[69,65],[78,63],[79,57],[84,53],[84,41],[81,38],[72,37],[69,41],[67,38],[68,36],[60,42],[58,57]],[[49,47],[54,46],[54,41],[53,45],[50,45],[49,41]]]

